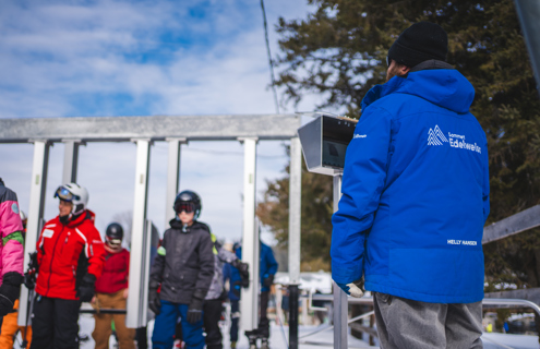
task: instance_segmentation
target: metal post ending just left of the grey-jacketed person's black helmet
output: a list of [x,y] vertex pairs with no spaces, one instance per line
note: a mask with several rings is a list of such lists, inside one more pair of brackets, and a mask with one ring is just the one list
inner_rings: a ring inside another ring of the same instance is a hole
[[167,194],[165,195],[165,227],[175,218],[172,203],[180,188],[180,147],[187,143],[185,139],[166,139],[169,143],[169,156],[167,163]]

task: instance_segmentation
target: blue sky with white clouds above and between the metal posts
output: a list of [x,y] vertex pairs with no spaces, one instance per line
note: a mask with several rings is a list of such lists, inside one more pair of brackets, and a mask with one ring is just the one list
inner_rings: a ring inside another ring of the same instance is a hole
[[[266,1],[276,57],[279,16],[303,19],[307,0]],[[259,0],[0,2],[0,118],[274,113]],[[315,96],[281,111],[313,110]],[[227,154],[220,153],[227,152]],[[281,142],[261,142],[257,192],[283,176]],[[58,213],[63,146],[50,152],[45,218]],[[167,146],[152,148],[148,217],[165,228]],[[32,145],[0,144],[0,177],[28,207]],[[88,144],[79,182],[103,232],[132,209],[135,145]],[[181,189],[203,197],[201,220],[228,240],[241,237],[242,146],[182,146]],[[271,240],[266,236],[267,240]]]

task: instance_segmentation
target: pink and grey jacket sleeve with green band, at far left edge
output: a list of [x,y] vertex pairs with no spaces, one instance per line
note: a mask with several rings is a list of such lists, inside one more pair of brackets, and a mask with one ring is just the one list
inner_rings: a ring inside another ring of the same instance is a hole
[[[3,196],[3,195],[2,195]],[[2,276],[5,273],[23,274],[24,248],[23,224],[19,215],[19,203],[14,192],[8,190],[0,196],[0,237],[2,238]]]

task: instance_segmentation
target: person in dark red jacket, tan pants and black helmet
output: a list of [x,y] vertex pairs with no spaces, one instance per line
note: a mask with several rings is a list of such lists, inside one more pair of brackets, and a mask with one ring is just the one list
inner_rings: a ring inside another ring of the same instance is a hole
[[[96,297],[93,304],[96,309],[125,309],[128,298],[128,275],[130,272],[130,253],[122,248],[123,229],[112,222],[107,227],[105,237],[104,273],[96,280]],[[96,349],[108,349],[109,337],[112,333],[111,321],[118,336],[120,349],[135,349],[135,329],[125,327],[123,314],[96,314],[96,325],[92,337]]]

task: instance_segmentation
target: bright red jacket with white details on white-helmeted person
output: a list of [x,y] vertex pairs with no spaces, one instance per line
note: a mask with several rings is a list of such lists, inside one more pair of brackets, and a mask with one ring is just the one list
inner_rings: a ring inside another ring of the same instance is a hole
[[77,281],[86,273],[101,276],[105,249],[94,216],[86,209],[67,225],[59,217],[45,224],[37,241],[38,294],[76,300]]

